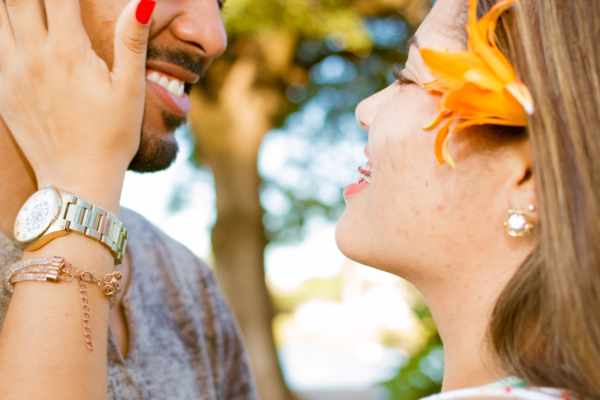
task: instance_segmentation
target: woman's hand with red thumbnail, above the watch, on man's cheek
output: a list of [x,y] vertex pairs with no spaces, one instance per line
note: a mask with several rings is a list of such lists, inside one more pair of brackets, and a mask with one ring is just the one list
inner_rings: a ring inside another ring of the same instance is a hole
[[132,0],[122,11],[109,70],[92,50],[79,0],[46,0],[45,10],[38,0],[0,1],[0,115],[38,186],[118,212],[139,147],[154,3]]

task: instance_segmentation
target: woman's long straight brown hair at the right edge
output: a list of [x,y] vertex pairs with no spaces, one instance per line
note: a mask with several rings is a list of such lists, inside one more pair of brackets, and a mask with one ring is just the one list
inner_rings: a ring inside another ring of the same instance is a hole
[[600,399],[600,2],[517,0],[496,35],[536,107],[540,242],[500,294],[491,344],[530,384]]

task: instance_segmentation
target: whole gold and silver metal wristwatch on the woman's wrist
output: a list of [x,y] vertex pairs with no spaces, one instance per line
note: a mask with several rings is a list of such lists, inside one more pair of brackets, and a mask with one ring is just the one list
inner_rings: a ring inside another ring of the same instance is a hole
[[69,232],[102,243],[115,257],[115,264],[121,264],[127,246],[123,222],[102,207],[54,185],[38,190],[25,201],[14,221],[13,243],[32,251]]

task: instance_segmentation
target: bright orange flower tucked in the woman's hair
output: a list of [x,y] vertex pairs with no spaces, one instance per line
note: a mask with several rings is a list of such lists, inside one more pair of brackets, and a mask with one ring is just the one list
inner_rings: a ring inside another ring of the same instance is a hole
[[[448,152],[448,140],[455,131],[472,125],[495,124],[525,127],[526,114],[533,114],[533,99],[527,87],[517,80],[515,70],[496,46],[494,32],[500,14],[515,0],[497,2],[477,20],[477,0],[469,2],[467,49],[419,49],[436,80],[422,87],[440,92],[442,112],[425,130],[447,119],[437,133],[436,156],[440,163],[456,163]],[[462,120],[449,129],[453,121]]]

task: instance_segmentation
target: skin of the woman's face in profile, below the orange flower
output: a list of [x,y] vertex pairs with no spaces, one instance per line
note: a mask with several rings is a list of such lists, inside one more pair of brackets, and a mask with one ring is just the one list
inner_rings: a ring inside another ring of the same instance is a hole
[[511,237],[503,226],[507,210],[535,202],[529,193],[535,190],[524,193],[520,182],[530,168],[528,143],[485,151],[473,146],[469,134],[458,133],[449,144],[457,162],[453,170],[434,153],[438,129],[421,128],[439,113],[440,98],[420,86],[434,78],[418,47],[465,49],[464,22],[466,1],[438,0],[410,46],[401,72],[406,82],[356,108],[358,122],[369,131],[365,155],[372,176],[370,183],[344,191],[337,244],[347,257],[413,283],[445,279],[458,267],[466,273],[494,258],[517,255],[518,263],[531,250],[531,239]]

